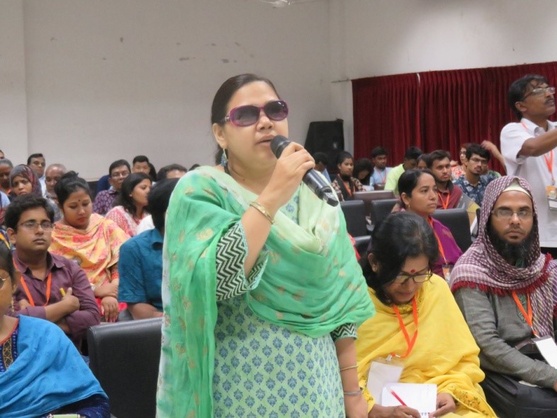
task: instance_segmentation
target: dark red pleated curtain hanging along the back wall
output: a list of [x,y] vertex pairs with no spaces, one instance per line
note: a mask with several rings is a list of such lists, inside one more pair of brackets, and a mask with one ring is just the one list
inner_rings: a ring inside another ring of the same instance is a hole
[[424,152],[446,149],[458,161],[464,142],[490,140],[499,147],[502,127],[515,120],[507,91],[525,74],[542,74],[555,86],[557,62],[353,80],[354,157],[370,157],[381,145],[396,165],[417,145]]

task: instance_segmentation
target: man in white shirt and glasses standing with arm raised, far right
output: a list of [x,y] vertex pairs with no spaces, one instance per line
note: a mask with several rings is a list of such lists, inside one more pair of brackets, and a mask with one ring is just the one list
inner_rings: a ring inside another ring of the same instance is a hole
[[507,174],[531,184],[538,205],[542,252],[557,256],[557,130],[547,120],[555,113],[555,87],[540,75],[515,80],[509,89],[509,104],[519,120],[501,131],[501,152]]

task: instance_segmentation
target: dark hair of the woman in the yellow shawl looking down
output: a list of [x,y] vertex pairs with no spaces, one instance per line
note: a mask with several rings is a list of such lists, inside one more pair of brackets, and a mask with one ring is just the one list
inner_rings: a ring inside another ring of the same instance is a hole
[[[393,238],[396,239],[393,239]],[[432,227],[419,215],[409,212],[392,213],[373,230],[371,249],[378,271],[373,271],[368,257],[361,267],[370,288],[386,305],[392,303],[384,287],[395,280],[406,260],[424,255],[432,266],[439,257],[439,247]]]

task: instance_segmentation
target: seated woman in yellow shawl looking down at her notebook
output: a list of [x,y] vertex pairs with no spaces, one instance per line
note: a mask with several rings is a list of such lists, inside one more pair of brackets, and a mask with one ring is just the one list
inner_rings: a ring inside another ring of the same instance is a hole
[[356,340],[368,417],[420,418],[411,405],[378,405],[367,390],[371,363],[389,356],[402,368],[400,383],[437,385],[430,417],[495,417],[478,385],[484,378],[480,350],[449,286],[431,271],[439,255],[432,228],[418,215],[395,213],[371,242],[363,269],[376,315],[359,327]]

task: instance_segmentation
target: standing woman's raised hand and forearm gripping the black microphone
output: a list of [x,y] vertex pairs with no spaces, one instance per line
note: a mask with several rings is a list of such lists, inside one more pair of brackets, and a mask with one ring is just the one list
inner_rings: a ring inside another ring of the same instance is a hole
[[271,180],[257,199],[274,215],[296,192],[303,175],[315,166],[310,153],[296,142],[291,142],[278,158]]

